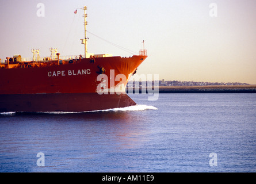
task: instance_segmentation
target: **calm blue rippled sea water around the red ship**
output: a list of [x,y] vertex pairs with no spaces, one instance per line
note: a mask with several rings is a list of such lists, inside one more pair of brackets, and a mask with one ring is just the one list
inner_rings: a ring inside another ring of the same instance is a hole
[[0,114],[0,172],[256,171],[256,94],[130,96],[138,106]]

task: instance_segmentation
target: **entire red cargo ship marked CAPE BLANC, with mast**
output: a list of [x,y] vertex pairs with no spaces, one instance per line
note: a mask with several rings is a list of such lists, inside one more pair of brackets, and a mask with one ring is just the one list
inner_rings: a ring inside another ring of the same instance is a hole
[[[0,64],[0,112],[88,112],[136,105],[125,86],[147,58],[146,49],[130,57],[87,53],[86,10],[82,7],[85,54],[6,57]],[[76,10],[77,11],[77,10]]]

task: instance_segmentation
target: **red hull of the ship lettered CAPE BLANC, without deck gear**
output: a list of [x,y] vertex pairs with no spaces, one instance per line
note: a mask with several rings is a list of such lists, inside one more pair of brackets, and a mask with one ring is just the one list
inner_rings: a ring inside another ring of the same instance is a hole
[[118,85],[113,77],[119,74],[127,79],[126,86],[146,57],[97,57],[95,63],[77,59],[70,64],[0,69],[0,112],[86,112],[136,105],[125,93],[97,93],[101,83],[97,77],[103,67],[107,86]]

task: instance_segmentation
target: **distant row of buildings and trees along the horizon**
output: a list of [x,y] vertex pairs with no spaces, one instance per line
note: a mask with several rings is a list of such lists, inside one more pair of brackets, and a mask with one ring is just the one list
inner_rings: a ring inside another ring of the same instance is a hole
[[250,85],[248,83],[240,82],[194,82],[194,81],[135,81],[128,82],[128,87],[146,87],[146,86],[240,86]]

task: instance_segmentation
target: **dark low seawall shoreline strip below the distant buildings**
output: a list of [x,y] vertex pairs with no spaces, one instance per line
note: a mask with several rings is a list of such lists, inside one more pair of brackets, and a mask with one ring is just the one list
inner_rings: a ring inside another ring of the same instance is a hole
[[[127,89],[127,93],[129,94]],[[154,88],[133,88],[133,93],[147,93]],[[151,93],[154,93],[152,91]],[[159,93],[256,93],[256,85],[240,85],[240,86],[159,86]]]

